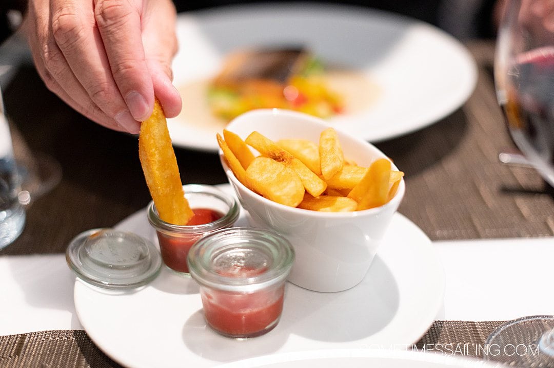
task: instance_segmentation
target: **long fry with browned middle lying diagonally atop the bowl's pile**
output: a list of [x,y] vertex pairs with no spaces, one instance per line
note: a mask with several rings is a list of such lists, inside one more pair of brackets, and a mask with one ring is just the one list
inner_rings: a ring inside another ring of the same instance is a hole
[[[320,196],[327,188],[327,184],[321,178],[314,174],[306,165],[290,154],[288,151],[280,148],[274,141],[266,138],[259,132],[252,132],[245,142],[256,149],[261,155],[269,157],[272,160],[293,169],[300,177],[302,185],[306,188],[306,192],[312,196]],[[251,164],[252,165],[252,164]]]

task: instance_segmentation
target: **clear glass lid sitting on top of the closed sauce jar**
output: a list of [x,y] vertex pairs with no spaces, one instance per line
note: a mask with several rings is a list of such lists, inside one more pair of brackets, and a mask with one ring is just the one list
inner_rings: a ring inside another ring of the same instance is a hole
[[204,286],[238,292],[253,292],[284,281],[293,262],[293,246],[283,236],[247,227],[204,236],[188,253],[194,280]]

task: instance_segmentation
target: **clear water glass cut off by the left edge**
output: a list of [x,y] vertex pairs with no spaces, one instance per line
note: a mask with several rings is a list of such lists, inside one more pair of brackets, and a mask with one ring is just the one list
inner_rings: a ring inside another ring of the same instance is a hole
[[25,210],[18,199],[21,184],[0,91],[0,249],[16,240],[25,226]]

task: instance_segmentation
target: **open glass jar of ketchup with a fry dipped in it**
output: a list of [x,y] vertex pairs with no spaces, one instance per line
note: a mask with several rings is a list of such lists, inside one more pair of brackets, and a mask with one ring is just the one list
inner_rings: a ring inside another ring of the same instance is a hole
[[203,212],[205,218],[211,219],[209,222],[198,225],[167,223],[160,219],[153,202],[148,205],[147,216],[156,229],[163,263],[178,274],[188,276],[187,255],[191,246],[204,235],[231,227],[240,210],[234,197],[212,186],[189,184],[184,185],[183,190],[195,215]]

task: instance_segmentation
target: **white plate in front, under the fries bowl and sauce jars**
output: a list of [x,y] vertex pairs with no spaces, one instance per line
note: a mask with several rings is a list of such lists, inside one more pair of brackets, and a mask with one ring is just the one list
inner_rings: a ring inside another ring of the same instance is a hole
[[[243,213],[237,225],[246,224]],[[116,229],[157,244],[145,210]],[[75,309],[90,338],[131,368],[211,367],[316,349],[409,348],[437,317],[443,296],[444,273],[429,238],[401,214],[394,215],[360,284],[319,293],[288,283],[279,324],[253,339],[233,340],[209,329],[196,283],[165,267],[150,285],[132,292],[106,291],[79,279],[74,290]]]

